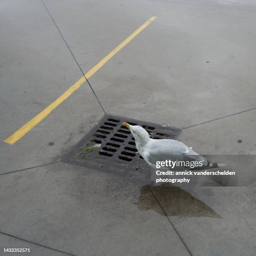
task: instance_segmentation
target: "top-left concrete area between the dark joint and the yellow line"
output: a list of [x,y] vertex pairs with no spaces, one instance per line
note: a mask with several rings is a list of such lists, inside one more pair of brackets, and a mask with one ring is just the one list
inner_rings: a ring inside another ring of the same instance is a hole
[[[82,74],[40,1],[2,3],[1,140],[37,115]],[[8,111],[3,111],[8,106]]]

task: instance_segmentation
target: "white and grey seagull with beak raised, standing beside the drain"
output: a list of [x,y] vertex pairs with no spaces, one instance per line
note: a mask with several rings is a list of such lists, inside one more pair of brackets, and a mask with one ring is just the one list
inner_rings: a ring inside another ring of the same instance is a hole
[[[172,139],[152,139],[149,137],[148,132],[139,125],[130,125],[123,122],[128,128],[136,143],[136,148],[143,159],[154,169],[156,168],[156,161],[202,161],[202,167],[195,167],[193,169],[205,169],[224,166],[223,164],[212,163],[205,157],[197,154],[191,147]],[[161,170],[168,169],[161,167]],[[177,169],[177,168],[176,168]],[[175,170],[176,170],[175,169]],[[178,168],[179,169],[179,168]],[[190,166],[182,166],[182,169],[189,170]]]

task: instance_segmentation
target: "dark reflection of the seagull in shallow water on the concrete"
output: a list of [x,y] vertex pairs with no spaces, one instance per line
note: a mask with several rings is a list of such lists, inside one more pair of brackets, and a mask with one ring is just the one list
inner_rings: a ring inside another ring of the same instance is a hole
[[148,184],[141,187],[140,192],[139,201],[133,202],[139,210],[154,210],[168,216],[221,218],[211,207],[180,187]]

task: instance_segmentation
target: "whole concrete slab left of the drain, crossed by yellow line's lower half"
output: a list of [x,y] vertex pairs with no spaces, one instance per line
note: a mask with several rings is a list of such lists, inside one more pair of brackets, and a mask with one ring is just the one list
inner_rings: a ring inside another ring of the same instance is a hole
[[[1,141],[82,76],[40,1],[5,2],[2,8]],[[20,141],[1,143],[0,173],[58,161],[102,115],[83,84]]]

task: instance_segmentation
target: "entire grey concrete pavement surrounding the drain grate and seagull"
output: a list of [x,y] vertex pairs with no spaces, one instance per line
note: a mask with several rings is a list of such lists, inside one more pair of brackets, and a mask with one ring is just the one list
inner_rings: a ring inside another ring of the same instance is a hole
[[[44,3],[84,73],[157,16],[89,79],[105,111],[184,128],[179,140],[201,154],[256,155],[256,110],[239,113],[256,108],[255,1]],[[0,24],[3,141],[82,73],[41,1],[0,1]],[[221,218],[168,219],[168,200],[162,208],[161,198],[143,210],[133,204],[141,184],[132,180],[61,162],[41,166],[60,161],[103,114],[84,83],[17,143],[0,143],[0,231],[16,237],[0,233],[0,255],[5,247],[30,247],[30,255],[256,254],[255,182],[190,188]]]

